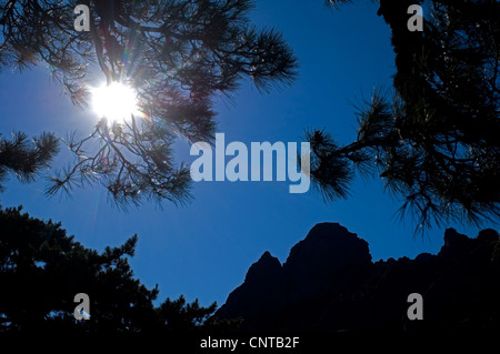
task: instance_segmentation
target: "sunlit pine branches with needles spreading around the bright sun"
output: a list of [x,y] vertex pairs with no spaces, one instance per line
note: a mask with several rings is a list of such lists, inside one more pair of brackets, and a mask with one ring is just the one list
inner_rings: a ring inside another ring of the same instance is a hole
[[[90,8],[90,31],[73,29],[77,3]],[[248,77],[259,90],[290,83],[296,59],[280,33],[257,30],[251,0],[3,0],[0,68],[48,63],[77,105],[88,103],[86,75],[97,63],[107,82],[134,88],[147,119],[108,122],[67,140],[76,163],[52,178],[48,194],[102,182],[120,205],[186,202],[189,169],[172,143],[213,141],[214,95]]]

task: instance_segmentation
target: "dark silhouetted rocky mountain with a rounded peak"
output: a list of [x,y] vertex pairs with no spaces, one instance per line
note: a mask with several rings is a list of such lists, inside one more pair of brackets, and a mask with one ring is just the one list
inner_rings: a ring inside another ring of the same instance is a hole
[[[423,299],[410,321],[408,296]],[[317,224],[284,264],[269,252],[216,314],[249,331],[454,331],[500,328],[500,241],[448,229],[437,255],[372,262],[368,243],[337,223]]]

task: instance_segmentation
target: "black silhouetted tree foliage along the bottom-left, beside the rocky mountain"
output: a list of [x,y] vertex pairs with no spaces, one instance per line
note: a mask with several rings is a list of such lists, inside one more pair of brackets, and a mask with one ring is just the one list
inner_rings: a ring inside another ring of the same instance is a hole
[[[60,223],[18,209],[0,209],[0,333],[143,333],[231,327],[206,321],[217,304],[200,306],[181,296],[159,307],[152,290],[133,277],[128,262],[137,235],[99,253],[68,236]],[[90,320],[77,321],[73,297],[90,297]]]

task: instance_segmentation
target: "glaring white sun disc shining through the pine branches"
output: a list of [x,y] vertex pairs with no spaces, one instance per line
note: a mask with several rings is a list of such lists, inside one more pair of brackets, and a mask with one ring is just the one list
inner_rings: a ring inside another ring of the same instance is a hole
[[122,121],[139,112],[136,92],[119,82],[93,89],[92,107],[99,118],[111,121]]

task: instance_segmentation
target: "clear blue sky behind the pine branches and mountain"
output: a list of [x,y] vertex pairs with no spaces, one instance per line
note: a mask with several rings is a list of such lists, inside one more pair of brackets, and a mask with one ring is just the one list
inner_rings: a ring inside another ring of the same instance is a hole
[[[253,22],[283,33],[300,60],[300,74],[291,88],[268,94],[243,82],[231,101],[217,101],[217,131],[226,134],[227,142],[248,145],[300,142],[307,128],[324,128],[340,143],[352,141],[357,123],[350,102],[368,98],[374,85],[389,88],[394,71],[390,32],[376,12],[368,0],[340,11],[326,9],[322,0],[257,1]],[[13,130],[86,133],[97,122],[90,110],[71,105],[43,65],[22,74],[0,73],[0,114],[3,135]],[[177,148],[178,159],[194,160],[187,143]],[[61,153],[54,165],[68,163],[67,158]],[[312,191],[289,194],[288,185],[199,182],[192,190],[194,201],[187,206],[166,203],[159,209],[147,203],[126,213],[99,186],[76,190],[71,199],[48,199],[43,180],[20,184],[12,178],[0,204],[22,204],[32,216],[61,221],[77,241],[100,251],[137,233],[131,260],[136,276],[149,287],[159,284],[160,300],[184,294],[204,305],[212,301],[221,305],[264,251],[284,262],[291,246],[319,222],[339,222],[367,240],[374,261],[436,253],[442,245],[444,229],[413,237],[412,220],[393,218],[400,203],[383,193],[377,179],[357,179],[347,201],[330,204]],[[479,230],[449,226],[471,236]],[[498,229],[498,224],[487,226]]]

